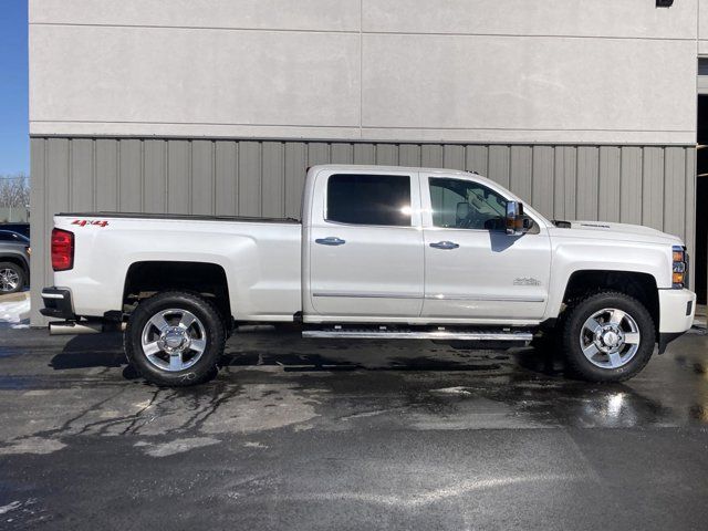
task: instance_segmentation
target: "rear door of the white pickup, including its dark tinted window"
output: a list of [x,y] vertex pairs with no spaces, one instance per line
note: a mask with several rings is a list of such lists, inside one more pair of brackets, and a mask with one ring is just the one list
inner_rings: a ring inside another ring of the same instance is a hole
[[304,268],[305,296],[315,313],[350,317],[342,321],[420,315],[419,190],[418,175],[410,171],[317,175]]

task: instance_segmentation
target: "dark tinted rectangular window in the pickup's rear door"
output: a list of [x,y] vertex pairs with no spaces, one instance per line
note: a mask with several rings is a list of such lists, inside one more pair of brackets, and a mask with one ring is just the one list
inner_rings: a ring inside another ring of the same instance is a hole
[[332,175],[326,218],[350,225],[410,227],[410,177]]

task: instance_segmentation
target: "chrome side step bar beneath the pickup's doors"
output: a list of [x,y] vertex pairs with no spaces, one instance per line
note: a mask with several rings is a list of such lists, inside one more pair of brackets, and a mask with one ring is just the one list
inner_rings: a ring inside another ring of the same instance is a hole
[[527,330],[523,331],[506,331],[506,330],[387,330],[387,329],[369,329],[369,330],[347,330],[347,329],[327,329],[327,330],[305,330],[302,332],[303,337],[313,339],[354,339],[354,340],[455,340],[455,341],[504,341],[524,343],[533,340],[533,334]]

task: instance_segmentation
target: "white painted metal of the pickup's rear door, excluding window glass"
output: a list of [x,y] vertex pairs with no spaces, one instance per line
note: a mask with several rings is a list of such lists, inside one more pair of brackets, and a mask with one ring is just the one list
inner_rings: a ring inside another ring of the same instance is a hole
[[[362,168],[347,174],[371,174]],[[326,179],[342,170],[321,170],[311,179],[312,202],[305,221],[303,267],[305,319],[417,319],[423,306],[423,232],[417,175],[387,169],[386,175],[412,179],[410,227],[345,225],[329,221]],[[340,238],[344,244],[317,244],[317,239]]]

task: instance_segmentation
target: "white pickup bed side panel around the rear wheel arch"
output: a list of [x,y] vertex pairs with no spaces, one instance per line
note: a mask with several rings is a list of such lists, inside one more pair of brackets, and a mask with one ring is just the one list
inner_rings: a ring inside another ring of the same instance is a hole
[[54,218],[75,235],[74,268],[54,273],[71,288],[79,315],[121,310],[128,268],[137,262],[206,262],[223,268],[231,312],[243,321],[292,321],[301,309],[298,223],[200,219],[112,218],[105,227],[72,225],[84,217]]

